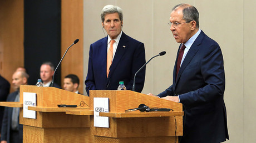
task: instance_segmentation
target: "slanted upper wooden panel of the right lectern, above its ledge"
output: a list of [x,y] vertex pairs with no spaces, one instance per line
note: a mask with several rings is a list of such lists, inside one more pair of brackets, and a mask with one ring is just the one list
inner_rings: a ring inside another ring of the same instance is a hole
[[170,108],[182,111],[182,104],[160,99],[131,90],[90,90],[90,110],[93,110],[93,98],[109,98],[109,110],[113,113],[124,113],[126,109],[137,108],[145,104],[157,108]]

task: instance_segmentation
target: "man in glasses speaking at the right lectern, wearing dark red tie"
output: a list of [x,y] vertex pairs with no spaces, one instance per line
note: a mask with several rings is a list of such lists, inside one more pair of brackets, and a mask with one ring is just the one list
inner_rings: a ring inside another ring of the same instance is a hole
[[157,96],[184,105],[184,132],[180,142],[223,142],[229,136],[220,47],[199,29],[199,13],[194,6],[175,6],[169,24],[176,42],[181,44],[173,85]]

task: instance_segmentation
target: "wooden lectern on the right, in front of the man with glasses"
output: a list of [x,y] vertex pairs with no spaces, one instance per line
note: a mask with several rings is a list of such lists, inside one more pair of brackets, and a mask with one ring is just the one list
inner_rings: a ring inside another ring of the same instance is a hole
[[[182,104],[136,93],[130,90],[90,90],[90,110],[93,110],[93,98],[109,98],[109,113],[100,116],[109,117],[109,128],[93,126],[90,117],[92,142],[178,142],[183,135]],[[150,108],[170,108],[168,112],[125,113],[126,109],[137,108],[145,104]]]

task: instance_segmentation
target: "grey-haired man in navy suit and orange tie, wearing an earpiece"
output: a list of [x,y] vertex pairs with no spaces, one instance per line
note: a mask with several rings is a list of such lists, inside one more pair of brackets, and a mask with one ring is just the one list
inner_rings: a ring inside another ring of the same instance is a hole
[[[122,32],[122,9],[107,5],[101,12],[102,28],[107,37],[90,46],[86,91],[116,90],[119,81],[124,81],[132,90],[134,75],[145,64],[144,44]],[[145,68],[136,75],[136,89],[141,92],[145,81]]]

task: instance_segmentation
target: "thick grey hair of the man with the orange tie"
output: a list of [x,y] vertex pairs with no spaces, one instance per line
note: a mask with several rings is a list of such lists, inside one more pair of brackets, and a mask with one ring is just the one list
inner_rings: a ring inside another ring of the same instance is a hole
[[107,5],[102,9],[100,14],[101,22],[104,22],[106,14],[110,14],[110,13],[118,13],[120,21],[122,22],[122,9],[120,7],[113,6],[113,5]]

